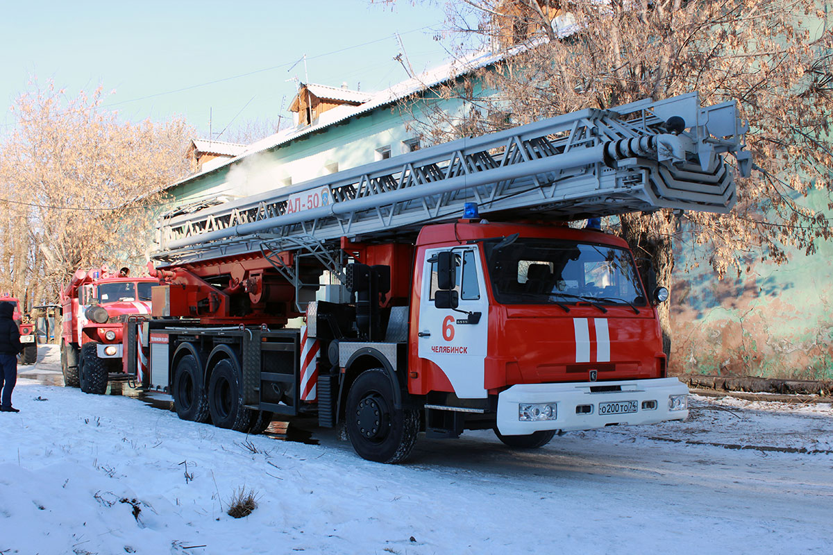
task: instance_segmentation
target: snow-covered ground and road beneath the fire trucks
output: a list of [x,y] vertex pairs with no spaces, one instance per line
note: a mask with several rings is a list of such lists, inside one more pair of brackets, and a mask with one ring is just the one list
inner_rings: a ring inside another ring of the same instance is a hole
[[[833,409],[695,397],[685,423],[513,452],[421,438],[409,463],[177,419],[20,367],[0,414],[0,553],[831,553]],[[39,381],[25,378],[38,375]],[[234,493],[257,496],[247,518]],[[134,516],[135,513],[135,516]]]

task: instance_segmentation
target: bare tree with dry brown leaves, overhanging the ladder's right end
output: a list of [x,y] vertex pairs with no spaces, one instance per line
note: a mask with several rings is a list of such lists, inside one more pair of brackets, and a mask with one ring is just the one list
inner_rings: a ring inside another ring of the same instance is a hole
[[[833,189],[829,116],[833,33],[818,0],[448,0],[458,44],[491,47],[502,62],[431,92],[463,108],[412,110],[435,140],[495,131],[584,107],[696,91],[703,104],[736,100],[751,122],[753,176],[739,181],[728,216],[659,211],[619,219],[637,257],[671,284],[674,240],[706,245],[719,276],[753,259],[816,252],[831,236],[823,213],[801,203]],[[406,109],[409,109],[406,107]],[[833,204],[830,204],[833,207]],[[681,225],[685,223],[685,225]],[[670,352],[668,305],[661,321]]]

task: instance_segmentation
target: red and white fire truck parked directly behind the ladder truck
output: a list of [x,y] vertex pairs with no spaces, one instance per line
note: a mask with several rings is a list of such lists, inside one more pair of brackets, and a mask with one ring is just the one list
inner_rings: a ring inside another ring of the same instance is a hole
[[77,270],[61,292],[61,369],[64,385],[103,394],[111,374],[122,373],[122,327],[151,312],[149,277],[112,275],[107,266]]

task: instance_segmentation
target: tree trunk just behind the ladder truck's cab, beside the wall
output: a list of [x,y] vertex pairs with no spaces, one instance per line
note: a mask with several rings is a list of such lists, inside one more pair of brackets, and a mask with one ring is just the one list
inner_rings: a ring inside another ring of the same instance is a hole
[[[655,287],[671,292],[671,272],[674,270],[672,235],[677,218],[670,210],[651,215],[625,214],[620,217],[622,238],[631,245],[636,265],[650,296]],[[654,279],[656,276],[656,280]],[[662,351],[671,359],[671,296],[656,307],[662,330]]]

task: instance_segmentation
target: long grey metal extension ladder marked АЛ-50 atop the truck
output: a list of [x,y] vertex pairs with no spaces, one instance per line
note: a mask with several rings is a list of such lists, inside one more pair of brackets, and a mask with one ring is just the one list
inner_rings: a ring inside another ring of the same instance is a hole
[[726,212],[736,190],[722,155],[748,175],[747,129],[734,102],[700,107],[696,93],[585,109],[163,218],[154,258],[176,264],[262,250],[264,241],[292,250],[309,240],[381,238],[461,217],[465,202],[482,215],[561,220]]

